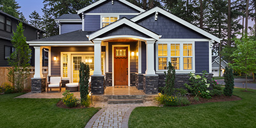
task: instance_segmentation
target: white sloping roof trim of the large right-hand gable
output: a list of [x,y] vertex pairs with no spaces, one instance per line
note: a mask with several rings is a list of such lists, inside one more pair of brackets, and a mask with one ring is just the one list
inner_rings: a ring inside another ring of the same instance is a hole
[[190,29],[193,29],[194,31],[206,36],[207,38],[210,38],[210,39],[220,43],[221,39],[218,38],[217,36],[212,35],[211,33],[205,31],[204,29],[198,28],[197,26],[189,23],[186,20],[180,19],[176,15],[173,15],[172,13],[167,12],[166,10],[164,10],[163,8],[159,8],[158,6],[152,8],[151,10],[148,10],[147,12],[141,13],[140,15],[133,17],[131,20],[133,22],[137,22],[138,20],[141,20],[141,19],[147,17],[148,15],[151,15],[152,13],[156,13],[156,12],[159,12],[159,13],[165,15],[166,17],[169,17],[170,19],[175,20],[176,22],[179,22],[180,24],[182,24]]

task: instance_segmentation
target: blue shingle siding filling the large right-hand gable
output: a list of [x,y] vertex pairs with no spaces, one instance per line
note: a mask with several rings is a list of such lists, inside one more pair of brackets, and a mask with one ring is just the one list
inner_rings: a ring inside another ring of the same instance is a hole
[[155,13],[152,13],[136,23],[162,35],[161,38],[207,38],[161,13],[158,14],[157,21],[155,21]]

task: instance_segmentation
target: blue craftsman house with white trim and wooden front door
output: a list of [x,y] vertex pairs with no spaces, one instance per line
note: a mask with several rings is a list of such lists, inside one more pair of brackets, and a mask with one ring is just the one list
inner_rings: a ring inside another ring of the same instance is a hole
[[[171,61],[177,84],[189,72],[212,72],[211,45],[220,38],[166,10],[145,11],[125,0],[100,0],[56,19],[60,35],[29,41],[35,47],[32,92],[44,90],[42,49],[49,49],[49,76],[79,82],[79,66],[90,66],[92,93],[106,86],[136,86],[147,94],[158,92]],[[104,82],[105,81],[105,82]]]

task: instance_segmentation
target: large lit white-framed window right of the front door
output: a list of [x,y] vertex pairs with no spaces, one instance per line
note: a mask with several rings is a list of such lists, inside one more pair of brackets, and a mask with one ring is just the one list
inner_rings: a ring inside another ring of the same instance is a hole
[[175,70],[180,72],[191,72],[193,69],[193,43],[173,42],[173,43],[157,43],[157,64],[159,72],[166,70],[168,61],[172,62]]

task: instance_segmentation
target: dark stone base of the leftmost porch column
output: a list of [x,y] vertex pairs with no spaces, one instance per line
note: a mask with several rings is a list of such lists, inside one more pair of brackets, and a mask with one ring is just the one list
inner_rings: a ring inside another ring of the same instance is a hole
[[31,92],[42,93],[45,92],[46,78],[31,78]]

